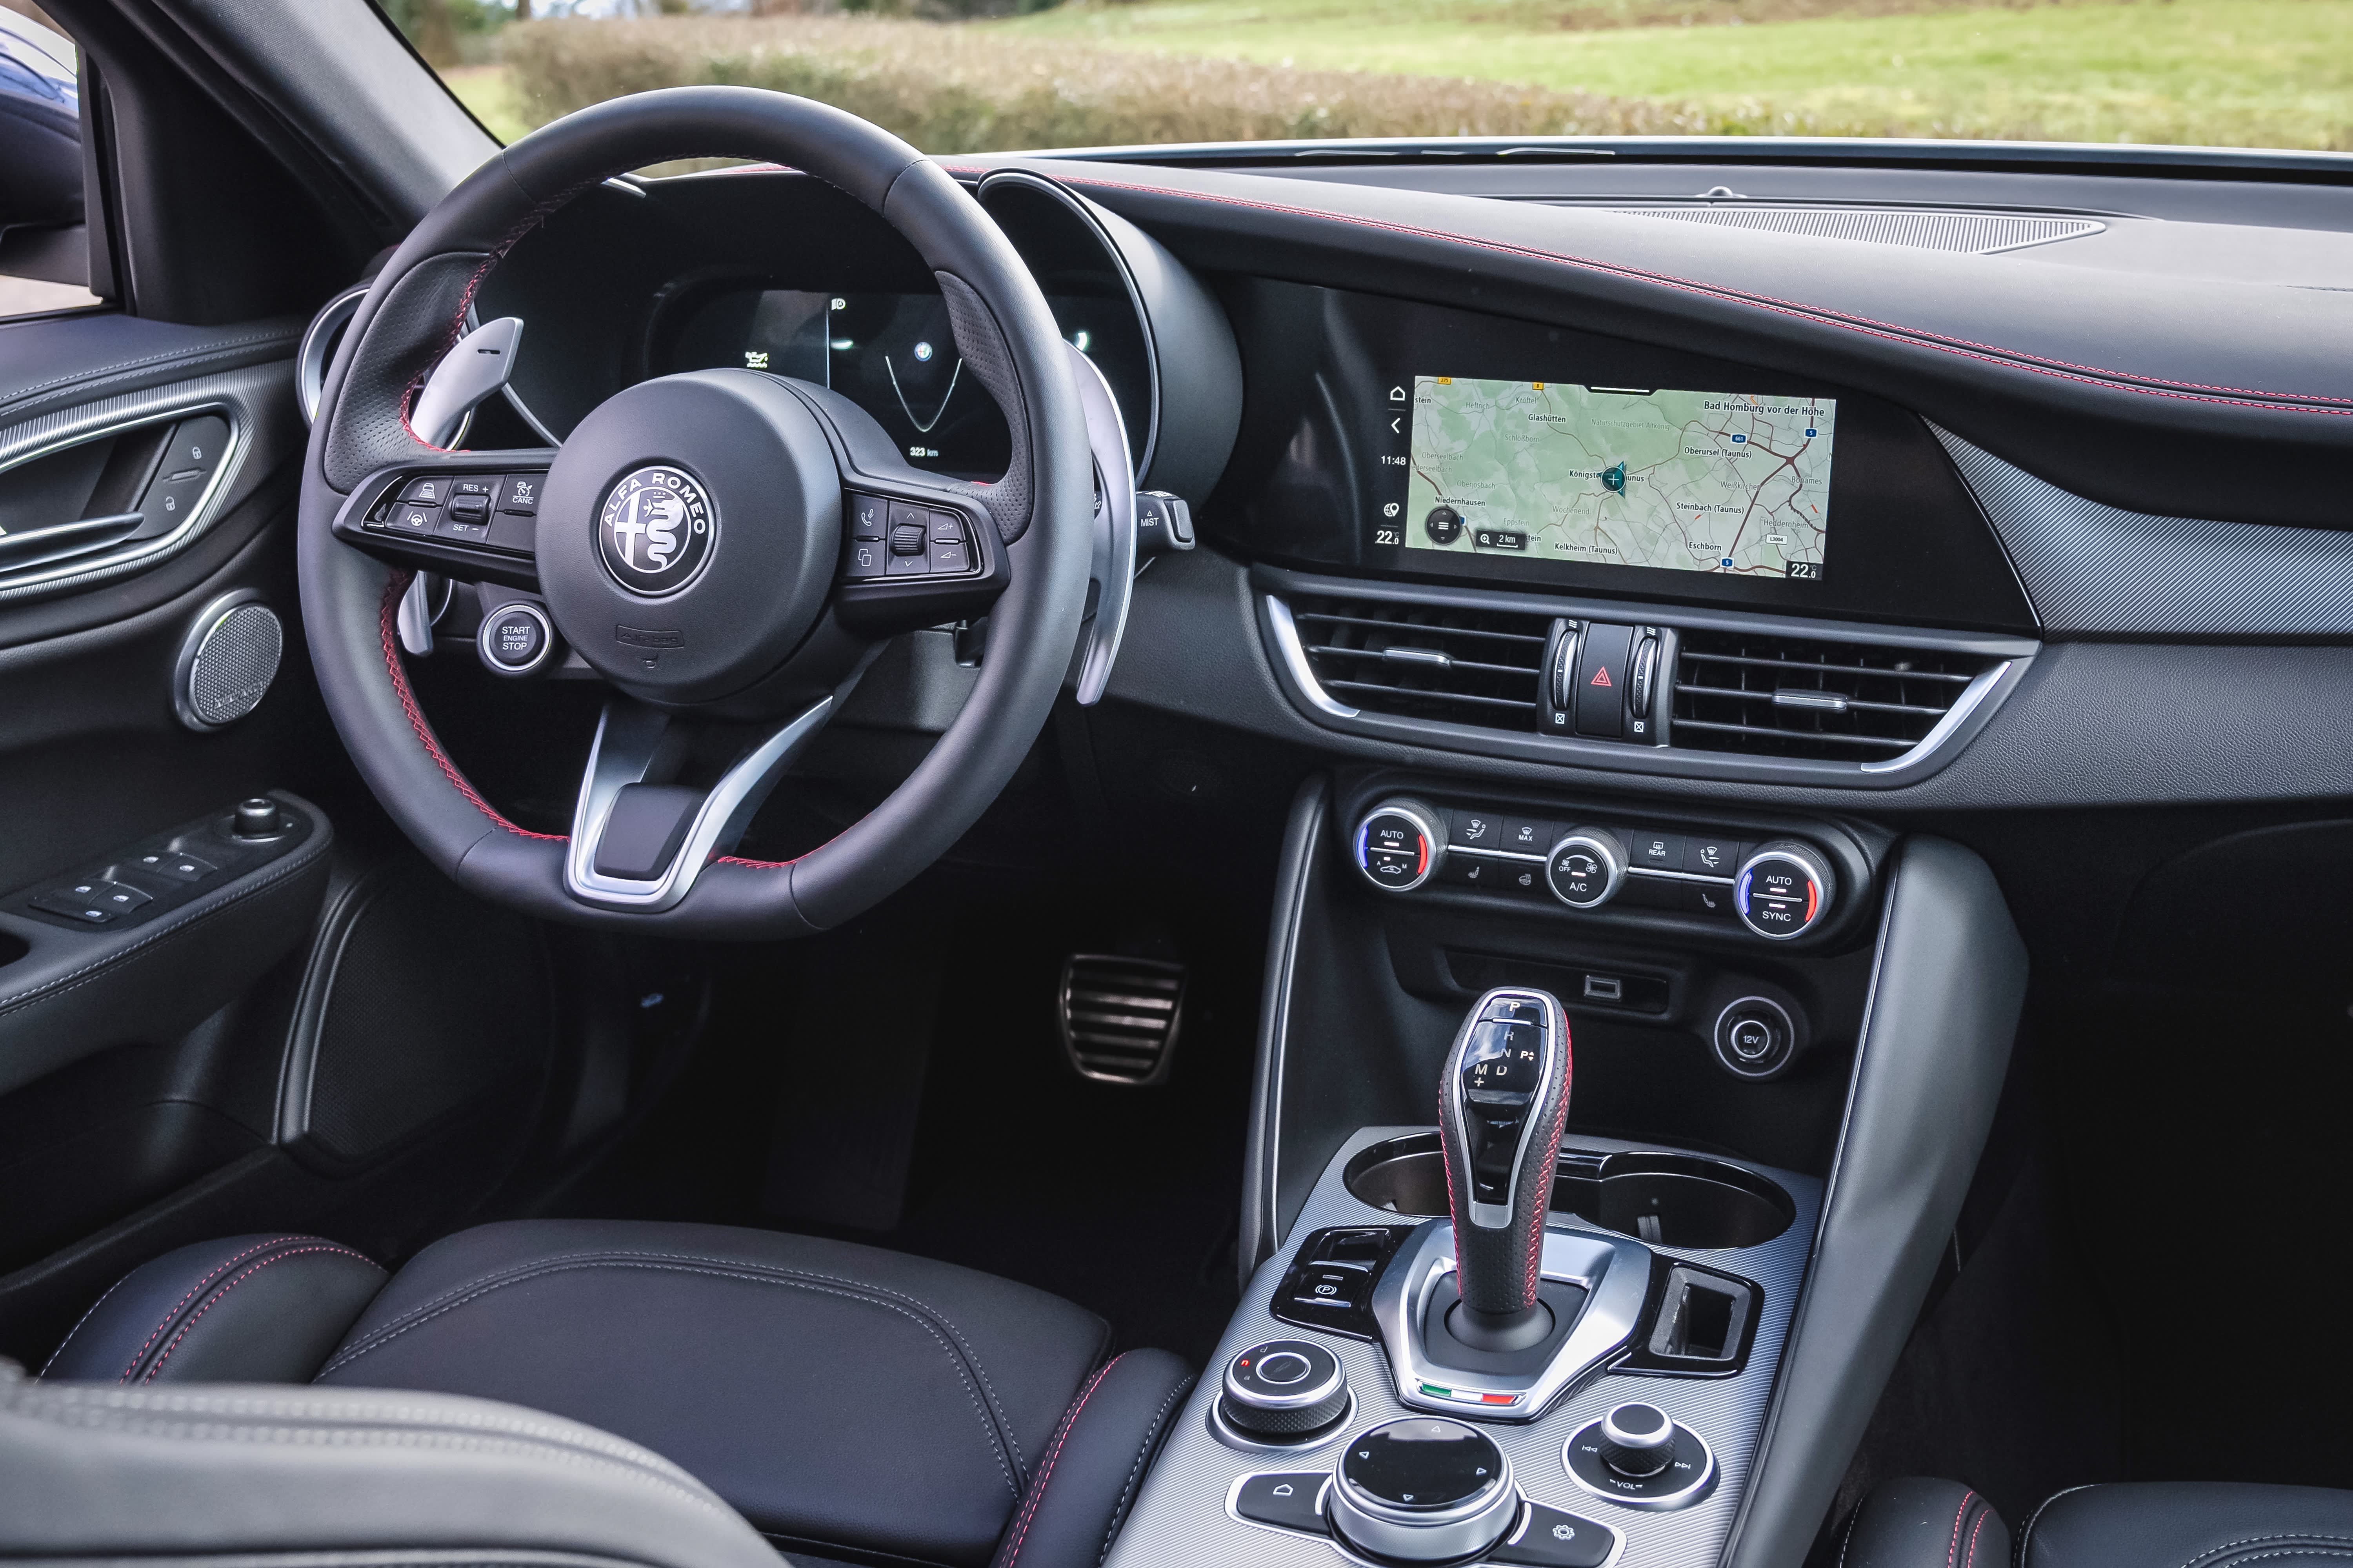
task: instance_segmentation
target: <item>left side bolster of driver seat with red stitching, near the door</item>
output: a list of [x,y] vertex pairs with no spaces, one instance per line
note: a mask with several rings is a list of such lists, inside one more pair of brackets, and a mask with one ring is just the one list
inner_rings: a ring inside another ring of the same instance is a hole
[[42,1377],[308,1382],[388,1276],[325,1236],[231,1236],[125,1274]]

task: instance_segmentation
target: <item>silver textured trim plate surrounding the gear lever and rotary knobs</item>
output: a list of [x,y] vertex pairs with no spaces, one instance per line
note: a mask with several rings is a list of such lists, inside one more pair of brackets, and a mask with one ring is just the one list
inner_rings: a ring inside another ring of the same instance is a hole
[[[1275,1257],[1249,1281],[1249,1290],[1242,1295],[1242,1304],[1226,1326],[1226,1337],[1217,1356],[1209,1361],[1212,1368],[1221,1368],[1238,1351],[1261,1340],[1311,1333],[1278,1323],[1268,1311],[1275,1283],[1292,1262],[1292,1243],[1322,1227],[1398,1224],[1400,1215],[1358,1201],[1341,1182],[1341,1170],[1346,1170],[1348,1158],[1358,1149],[1405,1132],[1428,1132],[1428,1128],[1362,1128],[1341,1144],[1315,1182],[1315,1191],[1292,1224],[1285,1245],[1275,1248]],[[1572,1142],[1581,1149],[1647,1147],[1584,1135],[1577,1135]],[[1777,1180],[1798,1203],[1798,1220],[1781,1236],[1760,1248],[1652,1248],[1661,1257],[1692,1260],[1739,1274],[1762,1288],[1765,1309],[1746,1373],[1739,1377],[1600,1373],[1541,1420],[1482,1424],[1482,1431],[1511,1457],[1513,1476],[1529,1500],[1607,1523],[1624,1537],[1619,1561],[1628,1566],[1713,1563],[1725,1549],[1732,1516],[1748,1483],[1758,1431],[1765,1424],[1765,1408],[1772,1396],[1774,1368],[1781,1361],[1781,1344],[1788,1335],[1791,1304],[1805,1276],[1805,1260],[1821,1208],[1821,1182],[1786,1170],[1765,1170],[1762,1165],[1755,1170]],[[1567,1215],[1553,1215],[1553,1229],[1609,1236],[1609,1231],[1591,1231],[1584,1222]],[[1377,1344],[1341,1340],[1337,1335],[1322,1335],[1320,1342],[1348,1368],[1348,1384],[1355,1391],[1355,1410],[1346,1424],[1348,1431],[1362,1431],[1400,1415],[1412,1415],[1398,1401],[1388,1358]],[[1167,1446],[1144,1479],[1134,1514],[1129,1514],[1127,1528],[1111,1544],[1104,1568],[1198,1568],[1198,1563],[1221,1563],[1226,1568],[1337,1568],[1344,1561],[1353,1561],[1327,1542],[1242,1523],[1226,1509],[1226,1497],[1242,1476],[1268,1469],[1327,1469],[1337,1450],[1329,1439],[1289,1450],[1254,1448],[1245,1453],[1231,1448],[1214,1434],[1212,1406],[1217,1403],[1217,1382],[1214,1375],[1202,1377],[1200,1387],[1193,1389],[1184,1415],[1169,1429]],[[1654,1514],[1600,1500],[1569,1479],[1567,1467],[1560,1462],[1560,1448],[1567,1436],[1626,1401],[1654,1403],[1708,1441],[1722,1471],[1713,1493],[1687,1509]]]

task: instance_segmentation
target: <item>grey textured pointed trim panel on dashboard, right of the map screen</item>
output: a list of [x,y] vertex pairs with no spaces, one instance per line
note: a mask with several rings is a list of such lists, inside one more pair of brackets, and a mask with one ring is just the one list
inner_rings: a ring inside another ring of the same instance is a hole
[[1929,428],[1986,509],[2047,633],[2353,633],[2353,532],[2125,511]]

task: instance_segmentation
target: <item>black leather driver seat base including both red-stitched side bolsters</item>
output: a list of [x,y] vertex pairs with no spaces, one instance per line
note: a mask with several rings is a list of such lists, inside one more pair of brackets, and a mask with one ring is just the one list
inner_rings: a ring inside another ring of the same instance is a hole
[[845,1241],[518,1220],[398,1274],[238,1236],[118,1281],[42,1382],[468,1394],[640,1443],[795,1561],[1092,1568],[1191,1370],[1061,1297]]

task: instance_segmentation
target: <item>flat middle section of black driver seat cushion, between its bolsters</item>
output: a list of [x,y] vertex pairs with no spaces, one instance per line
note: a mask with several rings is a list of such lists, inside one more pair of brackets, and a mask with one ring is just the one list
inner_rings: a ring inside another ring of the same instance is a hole
[[553,1410],[661,1453],[781,1544],[986,1563],[1108,1328],[842,1241],[522,1220],[419,1253],[318,1373]]

